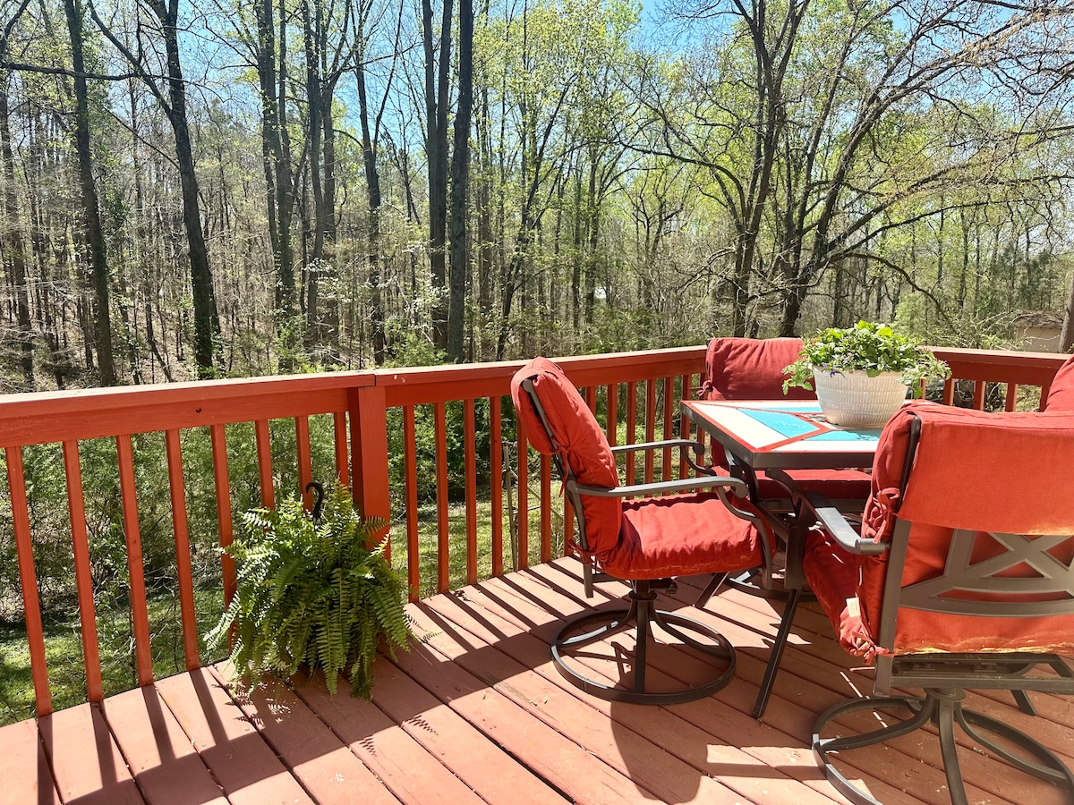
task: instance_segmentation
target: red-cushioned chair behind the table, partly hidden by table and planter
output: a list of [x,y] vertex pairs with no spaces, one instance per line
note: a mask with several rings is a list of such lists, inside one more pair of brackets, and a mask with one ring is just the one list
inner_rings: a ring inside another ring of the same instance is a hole
[[[698,397],[712,400],[815,400],[809,389],[794,386],[783,392],[787,378],[784,368],[793,364],[802,348],[801,338],[713,338],[705,355],[705,378]],[[730,474],[746,482],[750,499],[756,506],[761,500],[779,508],[793,506],[786,485],[764,471],[754,474],[731,455],[724,454],[719,444],[712,445],[712,469],[720,474]],[[787,473],[798,488],[823,493],[844,509],[860,508],[869,497],[870,478],[867,472],[845,470],[792,470]],[[788,535],[781,535],[786,538]],[[786,591],[773,584],[772,556],[766,553],[764,564],[744,573],[731,575],[717,573],[705,587],[695,605],[703,608],[724,584],[744,589],[754,595],[786,598]],[[797,584],[797,581],[793,583]]]

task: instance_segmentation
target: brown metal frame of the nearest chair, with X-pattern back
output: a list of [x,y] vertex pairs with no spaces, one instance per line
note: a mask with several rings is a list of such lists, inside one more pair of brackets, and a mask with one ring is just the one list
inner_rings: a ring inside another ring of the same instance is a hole
[[[914,420],[906,450],[900,491],[904,492],[920,435],[920,422]],[[900,495],[901,500],[901,495]],[[925,582],[902,586],[902,568],[910,550],[912,522],[896,517],[889,542],[862,540],[839,510],[823,495],[801,493],[796,506],[802,516],[812,515],[832,539],[851,554],[881,555],[888,553],[884,580],[884,599],[877,644],[890,648],[895,643],[896,623],[900,609],[942,612],[979,617],[1042,617],[1074,614],[1074,567],[1069,567],[1048,553],[1069,536],[1034,536],[990,533],[989,538],[1007,550],[992,558],[971,564],[970,557],[978,532],[955,530],[941,575]],[[898,514],[898,504],[896,506]],[[798,561],[804,552],[804,541],[795,544]],[[1029,565],[1036,576],[998,576],[1003,570]],[[947,594],[959,591],[959,596]],[[971,600],[961,594],[1001,594],[999,600]],[[795,591],[797,592],[797,591]],[[1054,600],[1028,600],[1036,594],[1053,594]],[[1020,597],[1020,600],[1019,600]],[[794,619],[798,597],[792,596],[780,625],[766,678],[775,672],[783,646]],[[828,708],[817,719],[813,731],[813,752],[828,780],[848,800],[858,805],[875,805],[876,800],[856,787],[833,764],[832,756],[840,751],[872,746],[899,735],[905,735],[929,723],[939,732],[940,752],[947,778],[947,789],[954,805],[968,803],[966,787],[956,751],[955,728],[990,752],[1029,774],[1066,789],[1074,799],[1074,775],[1043,744],[1010,724],[963,706],[969,689],[1003,689],[1014,696],[1019,709],[1035,715],[1029,691],[1074,693],[1074,670],[1057,654],[1031,652],[996,652],[984,654],[880,654],[875,659],[873,691],[879,696],[853,699]],[[1049,675],[1031,676],[1045,667]],[[771,684],[769,682],[769,689]],[[890,696],[892,687],[921,688],[920,697]],[[871,732],[845,736],[822,737],[832,721],[858,711],[903,709],[909,718]],[[1012,751],[997,738],[1013,744],[1024,753]]]

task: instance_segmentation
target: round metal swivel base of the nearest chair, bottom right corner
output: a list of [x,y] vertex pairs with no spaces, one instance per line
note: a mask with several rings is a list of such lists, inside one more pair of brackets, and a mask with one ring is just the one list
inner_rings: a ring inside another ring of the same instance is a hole
[[[837,704],[827,709],[817,719],[816,727],[813,730],[813,753],[824,767],[828,781],[847,800],[858,805],[879,805],[877,800],[874,800],[866,791],[862,791],[851,782],[833,765],[830,756],[840,751],[873,746],[899,735],[906,735],[932,722],[937,726],[940,733],[940,755],[943,758],[950,801],[954,805],[966,805],[969,801],[967,800],[966,786],[962,781],[962,773],[959,769],[955,743],[955,727],[958,726],[972,741],[989,752],[1006,760],[1024,772],[1028,772],[1065,789],[1068,794],[1074,799],[1074,775],[1071,774],[1070,770],[1050,749],[1020,730],[1016,730],[982,713],[963,707],[962,700],[964,698],[966,691],[961,689],[939,690],[927,688],[923,698],[865,698]],[[824,732],[825,727],[852,713],[887,709],[909,711],[910,718],[861,735],[834,738],[821,737],[821,733]],[[1007,746],[997,743],[996,738],[1002,740],[1007,745],[1018,747],[1024,753],[1014,753]]]

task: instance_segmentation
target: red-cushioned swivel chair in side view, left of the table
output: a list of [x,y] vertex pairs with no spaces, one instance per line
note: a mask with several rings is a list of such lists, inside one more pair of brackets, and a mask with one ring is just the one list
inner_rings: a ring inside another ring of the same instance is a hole
[[[630,585],[628,606],[582,615],[563,626],[552,643],[560,673],[601,699],[643,704],[692,701],[727,685],[735,675],[735,648],[708,626],[658,609],[656,596],[670,586],[673,576],[736,570],[758,562],[765,526],[751,512],[732,510],[726,496],[728,489],[744,495],[745,484],[709,473],[620,486],[615,454],[673,445],[693,448],[700,455],[702,447],[670,440],[610,448],[578,390],[557,365],[543,357],[534,358],[514,375],[511,397],[529,443],[553,456],[564,479],[578,521],[577,538],[567,541],[566,550],[582,561],[586,596],[593,595],[594,570],[601,574],[597,581],[610,577]],[[690,463],[695,470],[707,472]],[[712,488],[719,495],[696,493]],[[657,494],[663,496],[652,497]],[[715,676],[685,689],[647,687],[649,648],[656,629],[721,660],[709,663]],[[578,653],[628,630],[635,638],[633,684],[627,687],[621,679],[606,685],[590,678]]]

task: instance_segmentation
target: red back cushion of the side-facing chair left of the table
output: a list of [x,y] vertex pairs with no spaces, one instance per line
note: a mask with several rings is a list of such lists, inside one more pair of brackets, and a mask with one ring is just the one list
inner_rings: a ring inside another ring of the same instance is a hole
[[[529,394],[522,387],[525,380],[533,381],[547,428]],[[619,486],[615,458],[600,425],[578,389],[556,364],[546,357],[535,357],[514,372],[511,399],[526,439],[539,453],[558,454],[565,469],[569,469],[580,484]],[[577,544],[568,544],[568,550],[592,554],[600,561],[601,555],[614,550],[619,542],[622,510],[620,498],[583,496],[582,521],[587,551],[581,552]]]

